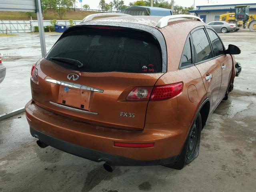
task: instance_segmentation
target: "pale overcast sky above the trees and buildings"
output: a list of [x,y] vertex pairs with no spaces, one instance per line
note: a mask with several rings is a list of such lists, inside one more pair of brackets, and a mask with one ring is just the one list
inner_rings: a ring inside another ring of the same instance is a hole
[[[106,3],[109,3],[110,1],[113,0],[105,0]],[[134,2],[136,0],[124,0],[124,4],[128,5],[130,2]],[[80,7],[81,3],[79,0],[76,0],[77,6]],[[91,9],[99,9],[100,0],[82,0],[82,5],[83,4],[88,4]],[[171,2],[171,0],[168,0],[168,2]],[[176,5],[184,6],[184,7],[190,7],[191,5],[194,4],[194,0],[174,0]],[[209,3],[218,3],[218,4],[239,4],[239,3],[255,3],[256,0],[209,0]],[[195,0],[195,6],[198,5],[204,5],[208,4],[208,0]]]

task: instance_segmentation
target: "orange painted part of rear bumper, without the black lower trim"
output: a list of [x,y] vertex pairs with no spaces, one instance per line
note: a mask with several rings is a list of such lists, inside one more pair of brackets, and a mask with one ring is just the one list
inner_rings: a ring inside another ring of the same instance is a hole
[[[29,102],[26,105],[26,115],[31,127],[40,132],[68,141],[72,144],[125,156],[135,160],[155,160],[175,156],[180,152],[182,138],[187,128],[180,128],[177,122],[146,124],[142,132],[111,129],[104,126],[66,118],[65,116],[45,110]],[[169,129],[172,127],[172,129]],[[116,142],[150,143],[152,148],[120,148]],[[170,150],[173,146],[173,150]]]

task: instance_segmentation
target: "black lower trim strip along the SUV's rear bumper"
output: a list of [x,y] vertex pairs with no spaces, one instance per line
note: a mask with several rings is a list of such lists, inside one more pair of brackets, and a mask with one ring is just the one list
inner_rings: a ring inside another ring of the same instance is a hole
[[33,137],[38,138],[45,144],[52,146],[56,149],[68,152],[70,154],[86,158],[95,162],[108,162],[115,166],[150,166],[150,165],[166,165],[176,160],[176,156],[170,158],[164,158],[159,160],[134,160],[126,158],[124,156],[118,156],[114,154],[108,154],[92,149],[88,149],[82,146],[78,146],[66,141],[54,138],[52,136],[41,133],[30,127],[30,133]]

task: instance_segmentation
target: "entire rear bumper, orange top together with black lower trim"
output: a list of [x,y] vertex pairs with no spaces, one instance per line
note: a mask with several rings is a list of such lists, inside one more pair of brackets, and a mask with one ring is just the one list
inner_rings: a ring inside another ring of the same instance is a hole
[[[62,151],[112,165],[164,165],[180,154],[187,127],[177,122],[146,124],[143,131],[106,128],[55,114],[30,101],[25,106],[32,136]],[[114,146],[114,142],[154,143],[148,148]]]

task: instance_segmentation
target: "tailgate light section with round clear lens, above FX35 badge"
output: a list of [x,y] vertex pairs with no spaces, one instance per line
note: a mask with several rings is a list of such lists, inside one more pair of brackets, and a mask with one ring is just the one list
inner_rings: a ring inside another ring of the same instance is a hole
[[136,87],[126,97],[126,100],[148,101],[153,87]]

